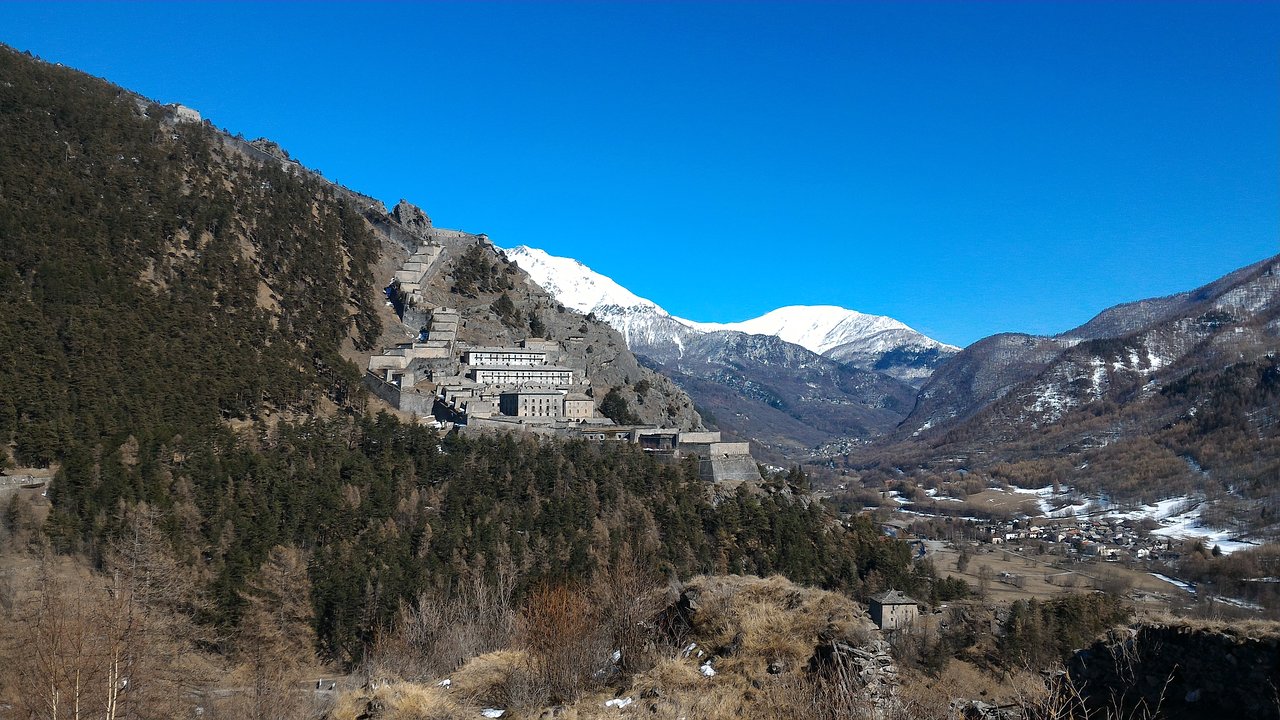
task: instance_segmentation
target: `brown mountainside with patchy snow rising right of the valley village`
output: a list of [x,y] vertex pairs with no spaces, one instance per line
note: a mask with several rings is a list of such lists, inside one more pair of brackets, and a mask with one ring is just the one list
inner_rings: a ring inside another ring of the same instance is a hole
[[847,460],[1116,501],[1203,493],[1207,521],[1274,530],[1280,258],[1061,336],[979,341],[929,379],[893,442]]

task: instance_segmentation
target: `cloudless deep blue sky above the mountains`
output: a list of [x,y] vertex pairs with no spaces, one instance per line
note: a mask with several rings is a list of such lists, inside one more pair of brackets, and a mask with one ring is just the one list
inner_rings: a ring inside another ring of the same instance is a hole
[[965,345],[1280,252],[1276,4],[0,3],[0,41],[698,320]]

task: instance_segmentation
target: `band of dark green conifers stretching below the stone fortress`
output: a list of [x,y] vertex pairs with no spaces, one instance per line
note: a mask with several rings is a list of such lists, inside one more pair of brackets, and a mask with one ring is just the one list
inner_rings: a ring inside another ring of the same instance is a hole
[[[83,469],[73,460],[45,529],[55,548],[101,557],[116,525],[133,530],[133,509],[159,510],[164,551],[189,578],[187,606],[223,630],[239,623],[273,548],[294,550],[319,650],[340,661],[358,660],[422,592],[506,573],[520,597],[539,582],[590,578],[620,553],[680,577],[782,573],[846,592],[865,592],[873,571],[869,589],[927,580],[869,520],[835,525],[785,483],[713,496],[696,464],[659,465],[630,446],[442,439],[387,415],[287,424],[255,439],[206,438],[177,459],[165,447],[134,460],[131,445],[93,469],[96,487],[74,482]],[[120,486],[141,491],[113,498],[108,488]]]

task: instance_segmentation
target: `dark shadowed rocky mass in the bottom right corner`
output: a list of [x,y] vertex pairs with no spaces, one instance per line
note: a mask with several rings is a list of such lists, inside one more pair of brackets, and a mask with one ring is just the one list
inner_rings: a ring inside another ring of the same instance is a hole
[[1119,630],[1076,652],[1065,702],[1123,707],[1125,717],[1275,719],[1277,687],[1280,628],[1178,623]]

